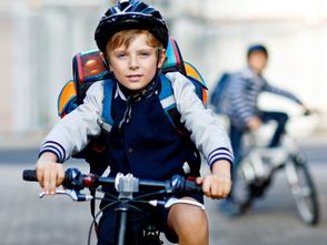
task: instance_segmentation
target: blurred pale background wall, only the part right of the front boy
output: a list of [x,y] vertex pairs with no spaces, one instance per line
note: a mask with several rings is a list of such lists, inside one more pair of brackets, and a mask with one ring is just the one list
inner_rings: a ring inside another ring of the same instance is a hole
[[[262,42],[269,50],[268,81],[320,110],[320,126],[327,127],[327,1],[207,0],[187,6],[174,35],[209,88],[221,72],[244,68],[247,47]],[[260,104],[297,111],[293,102],[275,96],[262,96]]]

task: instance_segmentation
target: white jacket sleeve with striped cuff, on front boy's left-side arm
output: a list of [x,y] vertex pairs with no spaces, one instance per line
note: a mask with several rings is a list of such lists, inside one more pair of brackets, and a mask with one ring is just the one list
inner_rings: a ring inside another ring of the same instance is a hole
[[101,132],[98,119],[102,114],[103,85],[97,82],[87,91],[86,99],[71,113],[60,120],[46,136],[40,154],[52,152],[58,162],[62,163],[71,155],[82,151],[89,142],[89,136]]

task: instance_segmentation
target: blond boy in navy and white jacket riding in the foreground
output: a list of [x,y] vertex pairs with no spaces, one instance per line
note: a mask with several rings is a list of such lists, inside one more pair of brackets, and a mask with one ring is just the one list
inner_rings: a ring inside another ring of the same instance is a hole
[[[190,172],[212,198],[226,197],[231,187],[232,151],[227,133],[198,99],[195,86],[178,72],[167,73],[180,120],[190,134],[180,134],[168,120],[159,100],[166,59],[168,29],[158,10],[138,0],[120,1],[101,18],[96,42],[115,81],[111,114],[113,124],[106,141],[110,176],[132,173],[140,178],[166,180]],[[62,183],[61,163],[82,151],[100,135],[105,84],[95,83],[83,103],[66,115],[47,135],[37,162],[37,177],[47,194]],[[200,150],[211,173],[199,177]],[[187,167],[186,167],[187,166]],[[189,169],[189,171],[187,171]],[[200,203],[199,195],[179,196]],[[106,205],[106,201],[101,203]],[[145,210],[145,213],[147,210]],[[208,244],[208,221],[204,211],[187,204],[150,214],[166,236],[179,244]],[[149,214],[133,221],[136,233]],[[112,244],[115,215],[106,210],[100,220],[98,244]]]

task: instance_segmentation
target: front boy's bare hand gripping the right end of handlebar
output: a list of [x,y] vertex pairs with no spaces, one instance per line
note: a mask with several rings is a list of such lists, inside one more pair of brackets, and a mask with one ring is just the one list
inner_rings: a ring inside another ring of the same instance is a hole
[[206,177],[198,177],[197,184],[202,184],[206,196],[211,198],[226,198],[231,188],[230,163],[220,160],[214,163],[212,173]]

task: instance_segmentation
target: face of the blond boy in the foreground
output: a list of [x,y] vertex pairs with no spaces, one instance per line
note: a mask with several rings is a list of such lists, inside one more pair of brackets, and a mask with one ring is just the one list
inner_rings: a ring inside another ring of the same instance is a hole
[[107,53],[109,68],[118,82],[133,91],[141,90],[151,82],[166,57],[165,50],[160,58],[157,57],[157,49],[147,43],[146,34],[136,35],[128,48],[121,45]]

